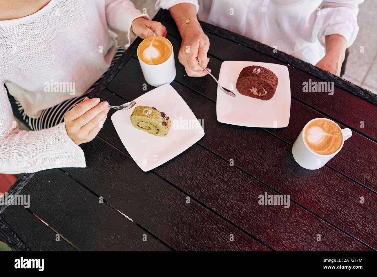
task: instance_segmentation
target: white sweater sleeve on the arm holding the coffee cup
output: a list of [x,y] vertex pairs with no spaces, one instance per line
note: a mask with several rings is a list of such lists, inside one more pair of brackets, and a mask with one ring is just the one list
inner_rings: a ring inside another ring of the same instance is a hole
[[136,35],[132,32],[132,21],[138,17],[149,16],[142,14],[135,8],[130,0],[105,0],[106,21],[111,28],[127,33],[128,43],[130,46]]

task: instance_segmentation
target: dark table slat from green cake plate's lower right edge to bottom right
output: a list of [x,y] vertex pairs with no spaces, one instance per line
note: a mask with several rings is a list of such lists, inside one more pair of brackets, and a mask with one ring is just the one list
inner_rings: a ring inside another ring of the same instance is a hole
[[[276,191],[197,145],[156,172],[276,250],[369,250],[293,202],[289,208],[259,205],[260,195],[277,194]],[[221,184],[211,182],[215,176]],[[317,234],[321,243],[317,242]]]

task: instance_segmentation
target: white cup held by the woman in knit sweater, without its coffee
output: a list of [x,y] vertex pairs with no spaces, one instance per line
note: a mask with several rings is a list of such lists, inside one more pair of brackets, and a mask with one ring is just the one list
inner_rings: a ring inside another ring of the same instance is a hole
[[[169,41],[168,39],[166,40]],[[175,70],[173,45],[170,41],[169,43],[172,46],[172,53],[170,54],[169,58],[166,61],[160,64],[144,63],[139,57],[138,51],[136,51],[141,70],[143,71],[144,79],[147,81],[148,84],[150,84],[153,87],[158,87],[163,84],[170,84],[175,79],[176,70]]]

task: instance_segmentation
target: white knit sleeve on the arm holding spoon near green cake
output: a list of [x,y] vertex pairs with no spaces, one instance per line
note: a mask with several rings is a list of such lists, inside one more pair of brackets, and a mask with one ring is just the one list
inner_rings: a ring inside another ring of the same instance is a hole
[[0,173],[86,167],[84,152],[67,135],[65,122],[40,131],[21,131],[0,81]]

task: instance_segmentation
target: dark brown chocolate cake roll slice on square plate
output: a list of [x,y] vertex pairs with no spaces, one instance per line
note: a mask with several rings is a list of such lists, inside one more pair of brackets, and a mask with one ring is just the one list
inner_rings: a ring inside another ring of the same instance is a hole
[[270,100],[277,87],[277,76],[262,66],[247,66],[239,73],[236,88],[239,93],[262,100]]

